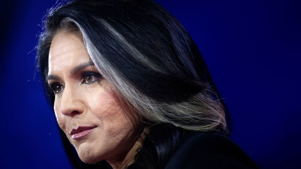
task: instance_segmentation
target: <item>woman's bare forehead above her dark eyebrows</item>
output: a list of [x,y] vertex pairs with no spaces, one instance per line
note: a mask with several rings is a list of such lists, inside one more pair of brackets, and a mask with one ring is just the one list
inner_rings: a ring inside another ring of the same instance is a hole
[[54,36],[49,49],[48,74],[88,61],[91,59],[79,35],[57,33]]

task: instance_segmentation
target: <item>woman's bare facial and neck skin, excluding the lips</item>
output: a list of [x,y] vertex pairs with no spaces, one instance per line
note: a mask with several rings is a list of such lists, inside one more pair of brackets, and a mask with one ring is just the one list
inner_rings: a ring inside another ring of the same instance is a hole
[[[57,92],[56,120],[82,161],[106,160],[113,168],[125,168],[134,162],[136,150],[142,145],[141,122],[94,65],[74,71],[89,62],[79,35],[59,32],[54,36],[49,52],[48,84],[54,84],[53,90]],[[70,132],[78,126],[95,128],[75,140]]]

